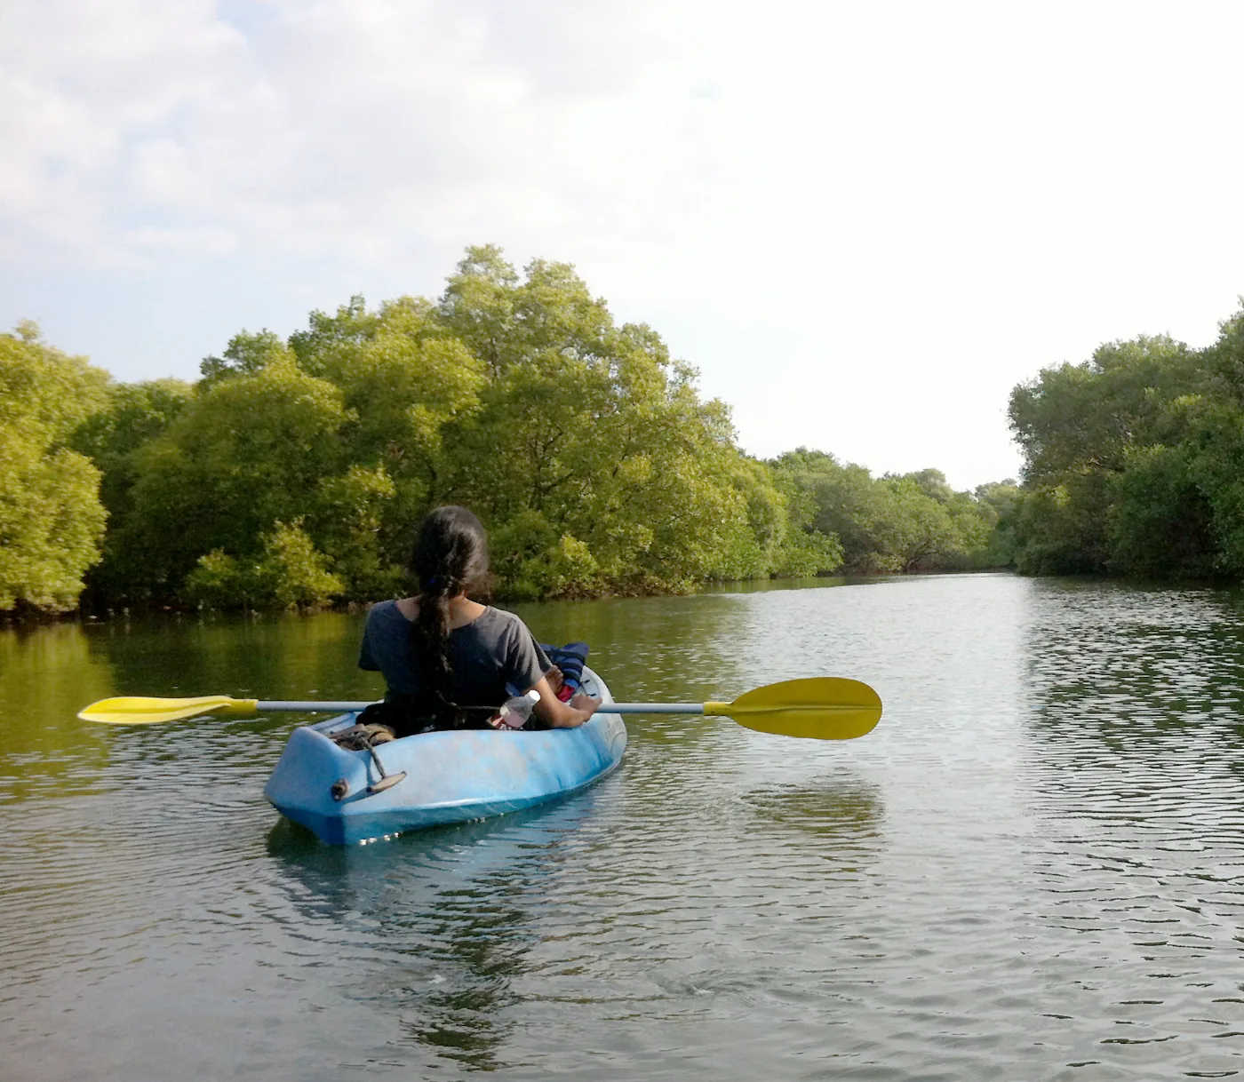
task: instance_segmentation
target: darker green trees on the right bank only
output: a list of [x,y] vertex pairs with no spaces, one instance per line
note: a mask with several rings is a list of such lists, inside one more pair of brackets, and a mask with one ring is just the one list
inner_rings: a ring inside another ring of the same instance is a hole
[[1101,346],[1014,389],[1015,562],[1033,575],[1244,575],[1244,310],[1218,340]]

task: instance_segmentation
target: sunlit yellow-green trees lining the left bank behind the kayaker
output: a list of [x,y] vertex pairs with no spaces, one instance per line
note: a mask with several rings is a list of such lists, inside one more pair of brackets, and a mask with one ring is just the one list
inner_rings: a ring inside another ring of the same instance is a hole
[[484,520],[509,598],[1009,561],[1011,486],[749,458],[652,328],[616,325],[571,266],[520,276],[491,246],[437,302],[241,332],[194,384],[114,383],[29,325],[0,363],[20,465],[0,480],[0,609],[67,608],[83,582],[100,608],[391,596],[443,502]]

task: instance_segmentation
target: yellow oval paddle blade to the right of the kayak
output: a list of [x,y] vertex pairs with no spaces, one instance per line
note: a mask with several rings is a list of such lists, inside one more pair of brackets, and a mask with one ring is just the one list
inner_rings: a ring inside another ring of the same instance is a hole
[[881,720],[881,696],[860,680],[812,677],[766,684],[733,703],[705,703],[704,713],[733,718],[758,733],[852,740]]

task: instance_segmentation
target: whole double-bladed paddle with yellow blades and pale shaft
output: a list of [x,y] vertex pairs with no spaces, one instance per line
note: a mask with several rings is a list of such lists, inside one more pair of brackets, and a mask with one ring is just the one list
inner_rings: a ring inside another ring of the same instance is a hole
[[[202,695],[197,699],[101,699],[78,711],[83,721],[109,725],[151,725],[203,714],[251,716],[291,711],[300,714],[362,710],[369,703],[299,703]],[[851,740],[870,733],[881,720],[881,698],[867,684],[841,677],[781,680],[755,688],[733,703],[606,703],[608,714],[709,714],[731,718],[758,733]]]

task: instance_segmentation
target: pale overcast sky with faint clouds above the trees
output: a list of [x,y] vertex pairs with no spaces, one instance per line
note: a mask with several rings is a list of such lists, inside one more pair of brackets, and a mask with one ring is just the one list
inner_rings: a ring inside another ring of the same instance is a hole
[[1011,388],[1244,294],[1237,2],[2,0],[0,330],[121,381],[576,266],[734,410],[958,489]]

